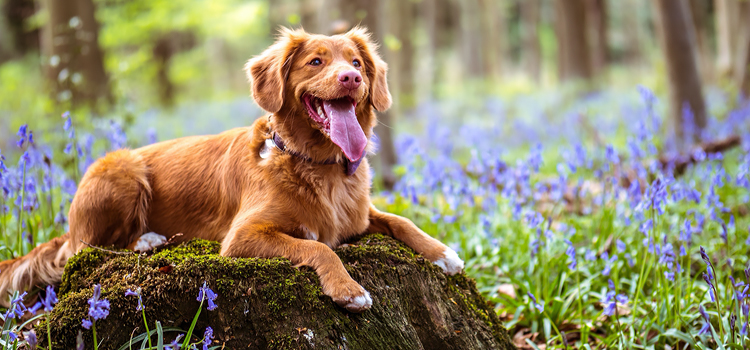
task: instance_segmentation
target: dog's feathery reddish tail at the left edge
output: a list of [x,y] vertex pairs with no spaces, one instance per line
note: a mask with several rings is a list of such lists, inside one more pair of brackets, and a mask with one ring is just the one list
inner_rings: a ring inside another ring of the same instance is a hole
[[32,249],[29,254],[0,262],[0,306],[8,307],[14,291],[58,284],[68,259],[75,248],[66,233]]

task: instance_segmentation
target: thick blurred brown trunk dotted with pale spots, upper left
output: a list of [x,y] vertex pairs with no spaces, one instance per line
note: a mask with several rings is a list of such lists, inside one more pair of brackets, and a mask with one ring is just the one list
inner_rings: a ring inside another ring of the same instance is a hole
[[59,101],[74,105],[112,102],[99,24],[92,0],[44,0],[49,21],[42,31],[47,78]]

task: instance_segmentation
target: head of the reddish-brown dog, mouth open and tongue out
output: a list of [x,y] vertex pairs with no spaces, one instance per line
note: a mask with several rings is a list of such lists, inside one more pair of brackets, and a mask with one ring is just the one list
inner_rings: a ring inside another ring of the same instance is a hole
[[283,29],[245,71],[255,101],[273,113],[287,146],[313,159],[364,156],[375,126],[372,108],[391,105],[387,66],[366,30],[335,36]]

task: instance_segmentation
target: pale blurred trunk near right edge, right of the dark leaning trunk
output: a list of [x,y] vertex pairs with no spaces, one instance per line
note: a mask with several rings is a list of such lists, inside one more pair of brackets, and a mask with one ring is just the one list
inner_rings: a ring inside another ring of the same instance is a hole
[[721,77],[731,77],[732,69],[735,67],[737,26],[740,22],[739,4],[737,0],[715,0],[714,6],[716,7],[716,46],[718,51],[716,70]]

